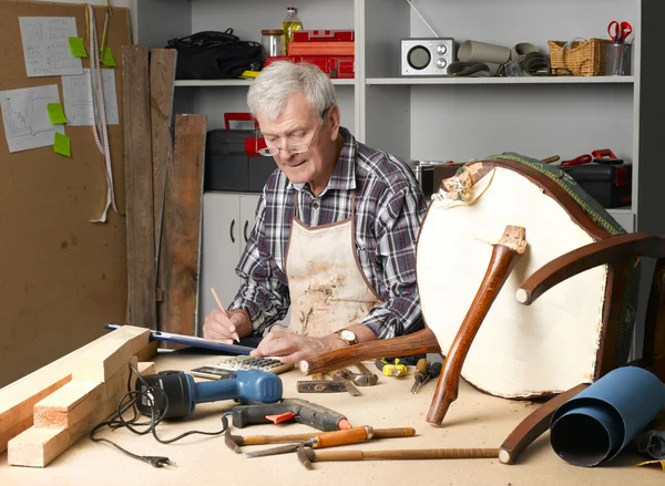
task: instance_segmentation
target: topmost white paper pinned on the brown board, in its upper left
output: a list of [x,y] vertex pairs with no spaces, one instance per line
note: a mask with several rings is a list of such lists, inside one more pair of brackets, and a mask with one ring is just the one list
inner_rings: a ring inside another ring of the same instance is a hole
[[69,46],[79,37],[73,17],[19,17],[28,77],[80,74],[81,60]]

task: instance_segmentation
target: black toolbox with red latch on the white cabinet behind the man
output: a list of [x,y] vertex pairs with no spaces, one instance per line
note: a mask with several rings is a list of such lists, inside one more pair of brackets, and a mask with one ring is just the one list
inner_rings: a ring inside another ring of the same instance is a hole
[[273,157],[247,151],[247,147],[255,146],[255,139],[253,130],[209,131],[205,148],[204,190],[260,193],[277,166]]

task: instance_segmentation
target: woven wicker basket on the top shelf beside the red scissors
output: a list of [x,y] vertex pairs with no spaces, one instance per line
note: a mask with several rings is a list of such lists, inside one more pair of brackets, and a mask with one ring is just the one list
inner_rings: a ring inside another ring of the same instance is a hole
[[605,45],[611,41],[548,41],[552,75],[602,76],[605,74]]

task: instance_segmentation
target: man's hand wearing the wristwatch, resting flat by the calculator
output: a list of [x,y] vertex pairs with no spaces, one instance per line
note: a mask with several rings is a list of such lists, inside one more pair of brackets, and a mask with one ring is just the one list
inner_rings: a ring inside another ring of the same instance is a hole
[[279,356],[283,363],[298,363],[301,360],[344,348],[336,337],[311,338],[288,331],[270,331],[260,342],[252,356]]

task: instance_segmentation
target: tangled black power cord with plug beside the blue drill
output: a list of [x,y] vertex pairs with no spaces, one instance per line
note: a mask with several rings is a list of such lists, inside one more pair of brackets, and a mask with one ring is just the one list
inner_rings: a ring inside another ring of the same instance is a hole
[[[164,456],[142,456],[139,454],[134,454],[134,453],[125,449],[124,447],[117,445],[116,443],[114,443],[113,441],[111,441],[109,438],[95,437],[95,434],[105,426],[108,426],[111,430],[125,427],[129,431],[131,431],[137,435],[146,435],[146,434],[152,433],[153,437],[158,443],[172,444],[176,441],[180,441],[183,437],[186,437],[186,436],[193,435],[193,434],[221,435],[221,434],[224,434],[224,432],[226,432],[226,430],[228,428],[228,420],[226,417],[227,417],[227,415],[231,414],[231,412],[226,412],[225,414],[222,415],[222,430],[221,431],[207,432],[207,431],[193,430],[193,431],[184,432],[172,438],[160,437],[157,435],[156,427],[157,427],[157,424],[160,424],[162,422],[162,420],[166,415],[166,411],[168,410],[168,395],[161,387],[150,385],[143,379],[143,375],[139,372],[139,370],[132,363],[129,363],[129,366],[130,366],[130,378],[127,380],[127,392],[120,399],[115,414],[108,421],[100,422],[90,431],[89,436],[92,442],[95,442],[98,444],[100,444],[100,443],[109,444],[112,447],[115,447],[116,449],[119,449],[120,452],[129,455],[130,457],[133,457],[137,461],[142,461],[144,463],[147,463],[147,464],[152,465],[153,467],[164,467],[164,466],[173,465],[174,463],[171,462],[171,459],[168,457],[164,457]],[[135,375],[136,380],[140,381],[141,384],[143,385],[141,387],[141,391],[132,390],[132,375]],[[162,399],[162,403],[164,404],[164,406],[162,409],[160,406],[157,406],[157,400],[156,400],[157,395],[160,396],[160,399]],[[141,417],[141,412],[139,411],[139,409],[136,406],[136,403],[139,403],[139,401],[141,401],[141,403],[143,403],[143,404],[147,404],[147,406],[150,409],[150,420],[149,421],[142,421],[142,422],[139,421],[139,418]],[[126,412],[129,412],[130,410],[133,412],[133,416],[131,416],[130,418],[125,418],[124,414]],[[140,427],[145,427],[145,428],[140,428]]]

